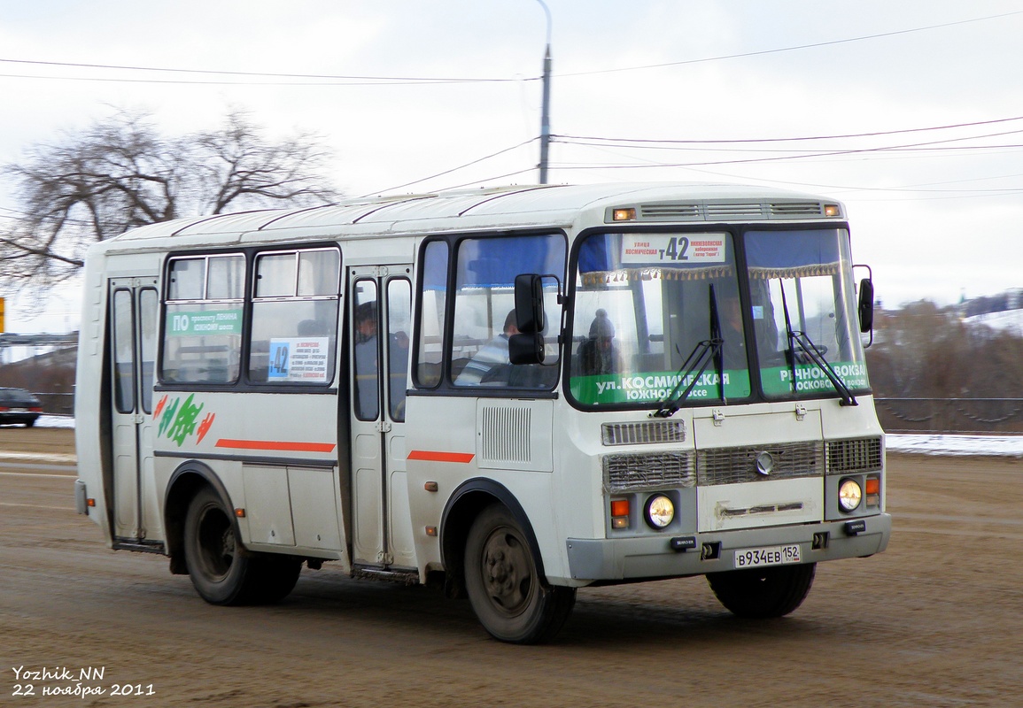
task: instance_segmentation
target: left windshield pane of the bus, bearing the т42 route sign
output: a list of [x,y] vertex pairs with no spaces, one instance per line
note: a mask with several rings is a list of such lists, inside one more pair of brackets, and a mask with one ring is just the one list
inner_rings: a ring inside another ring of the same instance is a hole
[[595,234],[579,249],[569,388],[583,405],[751,394],[728,233]]

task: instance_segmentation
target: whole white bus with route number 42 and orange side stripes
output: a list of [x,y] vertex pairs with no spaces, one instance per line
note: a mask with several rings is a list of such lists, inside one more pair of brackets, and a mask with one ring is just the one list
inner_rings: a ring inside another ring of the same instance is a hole
[[513,643],[643,579],[785,615],[891,531],[853,283],[841,203],[724,185],[145,226],[86,262],[79,510],[214,604],[331,561]]

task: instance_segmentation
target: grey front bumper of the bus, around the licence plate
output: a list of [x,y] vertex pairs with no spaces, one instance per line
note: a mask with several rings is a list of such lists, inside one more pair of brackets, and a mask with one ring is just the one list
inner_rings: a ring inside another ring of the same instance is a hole
[[740,567],[737,551],[787,548],[791,558],[791,547],[798,546],[800,563],[862,558],[888,547],[891,527],[891,515],[879,514],[850,521],[683,536],[569,538],[569,569],[572,580],[588,584],[736,570]]

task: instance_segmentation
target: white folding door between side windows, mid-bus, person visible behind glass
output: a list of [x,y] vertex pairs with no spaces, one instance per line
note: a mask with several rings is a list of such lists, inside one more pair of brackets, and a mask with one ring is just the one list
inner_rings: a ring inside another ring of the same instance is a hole
[[352,559],[414,568],[405,468],[411,267],[349,269]]

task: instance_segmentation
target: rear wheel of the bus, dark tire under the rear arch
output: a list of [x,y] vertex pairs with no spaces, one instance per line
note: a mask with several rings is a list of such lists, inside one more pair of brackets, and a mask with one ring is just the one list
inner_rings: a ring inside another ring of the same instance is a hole
[[192,585],[212,605],[275,603],[295,587],[301,559],[247,551],[220,495],[204,487],[185,517],[184,552]]

